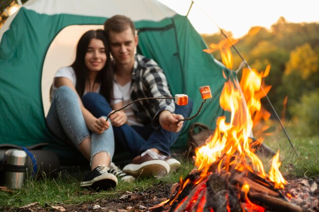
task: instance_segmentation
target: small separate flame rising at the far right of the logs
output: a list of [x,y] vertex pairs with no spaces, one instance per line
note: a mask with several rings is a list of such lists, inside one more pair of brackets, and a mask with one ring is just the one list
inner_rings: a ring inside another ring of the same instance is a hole
[[283,178],[279,171],[281,162],[279,162],[279,150],[273,158],[272,167],[269,171],[269,179],[274,182],[275,189],[284,189],[284,185],[287,184],[287,181]]

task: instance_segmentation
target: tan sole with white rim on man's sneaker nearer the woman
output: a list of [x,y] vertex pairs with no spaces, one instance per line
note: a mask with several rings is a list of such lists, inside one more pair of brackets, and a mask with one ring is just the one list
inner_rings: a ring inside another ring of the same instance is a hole
[[170,172],[170,166],[162,160],[147,161],[141,164],[128,164],[123,171],[132,176],[165,176]]

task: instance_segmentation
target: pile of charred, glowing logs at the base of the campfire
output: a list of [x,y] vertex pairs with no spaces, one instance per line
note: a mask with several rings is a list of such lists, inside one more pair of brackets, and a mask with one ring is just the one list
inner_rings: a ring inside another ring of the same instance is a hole
[[[216,163],[212,164],[212,167]],[[210,167],[211,169],[211,167]],[[214,169],[214,168],[213,168]],[[164,204],[150,207],[152,212],[229,212],[229,211],[277,211],[303,212],[303,209],[290,203],[278,190],[256,183],[243,174],[210,173],[202,178],[201,171],[194,171],[180,183],[171,199]],[[243,182],[249,184],[246,199],[241,190]]]

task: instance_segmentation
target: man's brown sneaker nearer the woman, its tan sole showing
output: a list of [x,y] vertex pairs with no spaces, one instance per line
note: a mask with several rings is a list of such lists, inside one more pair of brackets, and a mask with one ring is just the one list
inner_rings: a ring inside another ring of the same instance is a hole
[[141,156],[127,164],[123,171],[135,177],[138,176],[165,176],[170,172],[168,163],[158,154],[148,149]]

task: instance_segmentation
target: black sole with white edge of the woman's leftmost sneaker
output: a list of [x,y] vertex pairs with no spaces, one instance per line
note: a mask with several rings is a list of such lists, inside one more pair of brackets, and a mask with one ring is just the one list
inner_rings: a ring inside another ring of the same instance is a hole
[[88,187],[90,189],[99,191],[99,190],[108,190],[114,188],[117,185],[117,178],[113,174],[104,174],[90,181],[83,181],[80,184],[80,187]]

